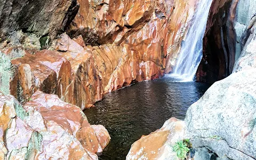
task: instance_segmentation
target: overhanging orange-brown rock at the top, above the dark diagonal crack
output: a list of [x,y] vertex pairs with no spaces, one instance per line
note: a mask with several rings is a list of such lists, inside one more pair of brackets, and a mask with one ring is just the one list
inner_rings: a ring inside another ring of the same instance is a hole
[[86,44],[113,43],[124,26],[137,27],[149,20],[155,1],[91,1],[78,0],[80,8],[69,26],[69,35],[83,35]]

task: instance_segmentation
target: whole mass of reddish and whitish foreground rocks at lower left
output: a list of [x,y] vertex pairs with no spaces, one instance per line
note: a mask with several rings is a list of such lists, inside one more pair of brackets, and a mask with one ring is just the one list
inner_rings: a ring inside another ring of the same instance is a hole
[[37,91],[21,106],[0,93],[0,110],[1,159],[98,159],[110,141],[105,127],[57,95]]

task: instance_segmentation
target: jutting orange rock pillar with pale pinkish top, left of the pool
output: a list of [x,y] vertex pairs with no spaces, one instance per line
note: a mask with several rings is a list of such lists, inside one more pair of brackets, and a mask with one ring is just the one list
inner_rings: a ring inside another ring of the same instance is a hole
[[[67,86],[66,93],[73,93],[65,101],[84,108],[90,108],[95,102],[102,99],[102,77],[94,62],[93,53],[89,48],[83,48],[66,34],[58,39],[56,50],[70,62],[73,77],[71,85]],[[70,101],[70,99],[73,99]]]

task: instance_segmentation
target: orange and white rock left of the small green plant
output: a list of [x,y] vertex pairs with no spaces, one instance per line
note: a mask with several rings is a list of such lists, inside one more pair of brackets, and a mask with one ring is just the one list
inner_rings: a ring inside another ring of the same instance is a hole
[[184,139],[185,123],[170,118],[163,127],[133,143],[126,159],[177,159],[175,142]]

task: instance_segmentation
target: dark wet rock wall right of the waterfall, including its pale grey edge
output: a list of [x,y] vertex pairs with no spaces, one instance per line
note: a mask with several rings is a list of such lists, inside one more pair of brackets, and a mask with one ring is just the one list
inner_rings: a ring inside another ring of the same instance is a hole
[[214,83],[231,73],[255,23],[254,1],[213,1],[204,36],[198,82]]

